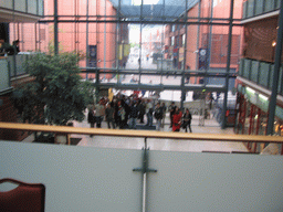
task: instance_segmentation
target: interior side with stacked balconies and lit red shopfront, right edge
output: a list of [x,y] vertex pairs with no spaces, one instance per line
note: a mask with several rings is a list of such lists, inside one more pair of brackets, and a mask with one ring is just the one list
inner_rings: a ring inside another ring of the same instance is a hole
[[[270,112],[271,91],[277,80],[274,134],[283,132],[282,67],[274,78],[275,47],[279,30],[280,1],[243,2],[243,43],[237,98],[237,134],[265,135]],[[282,60],[281,60],[282,61]],[[262,148],[248,146],[255,151]]]

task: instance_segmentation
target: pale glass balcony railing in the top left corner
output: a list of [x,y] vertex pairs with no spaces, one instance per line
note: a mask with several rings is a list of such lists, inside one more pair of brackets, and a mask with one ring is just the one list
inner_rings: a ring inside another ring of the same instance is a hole
[[0,1],[0,8],[43,17],[43,0]]

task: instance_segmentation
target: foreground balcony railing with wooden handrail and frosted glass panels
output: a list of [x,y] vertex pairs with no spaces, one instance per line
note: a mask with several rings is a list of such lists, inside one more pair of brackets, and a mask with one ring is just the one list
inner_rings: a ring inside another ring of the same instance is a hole
[[[107,135],[114,139],[134,136],[188,142],[190,139],[282,142],[282,137],[276,136],[208,136],[4,123],[0,128]],[[46,187],[46,212],[227,211],[227,205],[237,211],[282,211],[281,156],[149,150],[146,141],[140,149],[0,141],[0,159],[1,178],[41,182]]]

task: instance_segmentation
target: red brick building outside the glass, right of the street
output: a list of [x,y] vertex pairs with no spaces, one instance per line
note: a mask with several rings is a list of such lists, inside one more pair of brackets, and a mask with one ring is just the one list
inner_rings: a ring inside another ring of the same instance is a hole
[[[165,57],[171,59],[174,66],[185,70],[206,70],[216,73],[226,72],[228,59],[228,25],[209,24],[209,18],[229,18],[230,1],[199,1],[187,12],[191,18],[188,23],[166,25]],[[241,19],[242,0],[234,1],[233,19]],[[185,17],[180,17],[182,21]],[[193,22],[203,22],[198,25]],[[187,33],[186,33],[187,29]],[[187,38],[186,38],[187,34]],[[234,26],[231,42],[230,73],[237,73],[241,52],[242,29]],[[186,54],[184,53],[186,51]],[[186,55],[186,59],[185,56]],[[208,77],[207,84],[224,84],[223,78]],[[190,77],[190,83],[202,84],[203,77]],[[229,89],[234,87],[234,81],[229,83]]]

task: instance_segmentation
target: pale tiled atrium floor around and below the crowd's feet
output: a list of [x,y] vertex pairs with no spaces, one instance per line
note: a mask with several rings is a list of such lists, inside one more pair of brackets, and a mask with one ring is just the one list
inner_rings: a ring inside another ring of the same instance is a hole
[[[74,127],[90,127],[84,120],[83,123],[75,123]],[[102,128],[106,128],[106,123],[102,124]],[[203,134],[233,134],[233,128],[221,129],[214,119],[208,119],[205,126],[199,126],[199,118],[192,117],[192,132]],[[167,115],[164,131],[170,131],[169,118]],[[85,136],[72,135],[72,137],[80,137],[82,140],[78,146],[83,147],[98,147],[98,148],[123,148],[123,149],[142,149],[145,146],[144,138],[125,138],[125,137],[102,137],[102,136]],[[147,139],[147,147],[150,150],[165,151],[248,151],[242,142],[220,142],[220,141],[189,141],[189,140],[174,140],[174,139]]]

